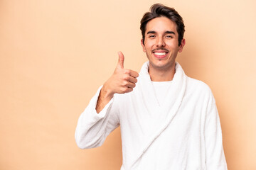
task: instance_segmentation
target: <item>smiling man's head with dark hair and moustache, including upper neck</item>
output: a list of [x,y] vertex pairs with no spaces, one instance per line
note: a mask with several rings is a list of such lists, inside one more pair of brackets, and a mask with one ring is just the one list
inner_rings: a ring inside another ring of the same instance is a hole
[[149,59],[149,74],[174,73],[178,52],[182,52],[184,24],[181,16],[161,4],[151,6],[141,21],[142,48]]

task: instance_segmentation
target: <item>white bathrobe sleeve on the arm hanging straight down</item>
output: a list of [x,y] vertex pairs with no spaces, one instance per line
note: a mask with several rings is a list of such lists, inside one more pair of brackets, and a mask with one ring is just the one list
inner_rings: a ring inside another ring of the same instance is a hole
[[220,118],[213,94],[209,90],[208,106],[205,122],[206,169],[228,169],[223,151],[223,137]]

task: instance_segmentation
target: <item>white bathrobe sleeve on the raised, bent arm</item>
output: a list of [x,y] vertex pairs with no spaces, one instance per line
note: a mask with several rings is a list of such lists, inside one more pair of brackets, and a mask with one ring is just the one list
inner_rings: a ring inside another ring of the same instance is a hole
[[97,99],[102,86],[92,97],[89,105],[78,119],[75,130],[75,142],[80,149],[100,147],[107,135],[119,126],[119,116],[117,115],[117,105],[114,104],[114,97],[105,108],[96,112]]

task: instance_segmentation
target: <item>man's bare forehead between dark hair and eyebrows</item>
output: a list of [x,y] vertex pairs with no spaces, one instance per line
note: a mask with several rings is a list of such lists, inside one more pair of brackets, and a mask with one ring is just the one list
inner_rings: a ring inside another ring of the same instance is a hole
[[156,31],[156,33],[166,32],[166,30],[174,31],[174,33],[177,32],[176,23],[165,16],[157,17],[149,21],[146,24],[146,33],[151,30]]

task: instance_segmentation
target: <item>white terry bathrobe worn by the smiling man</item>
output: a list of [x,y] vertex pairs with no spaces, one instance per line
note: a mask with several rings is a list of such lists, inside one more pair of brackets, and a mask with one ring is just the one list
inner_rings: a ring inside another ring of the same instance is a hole
[[100,147],[120,125],[122,170],[227,169],[215,100],[209,87],[191,79],[176,63],[176,73],[159,105],[146,62],[137,86],[114,94],[97,114],[98,89],[80,115],[75,140],[81,149]]

